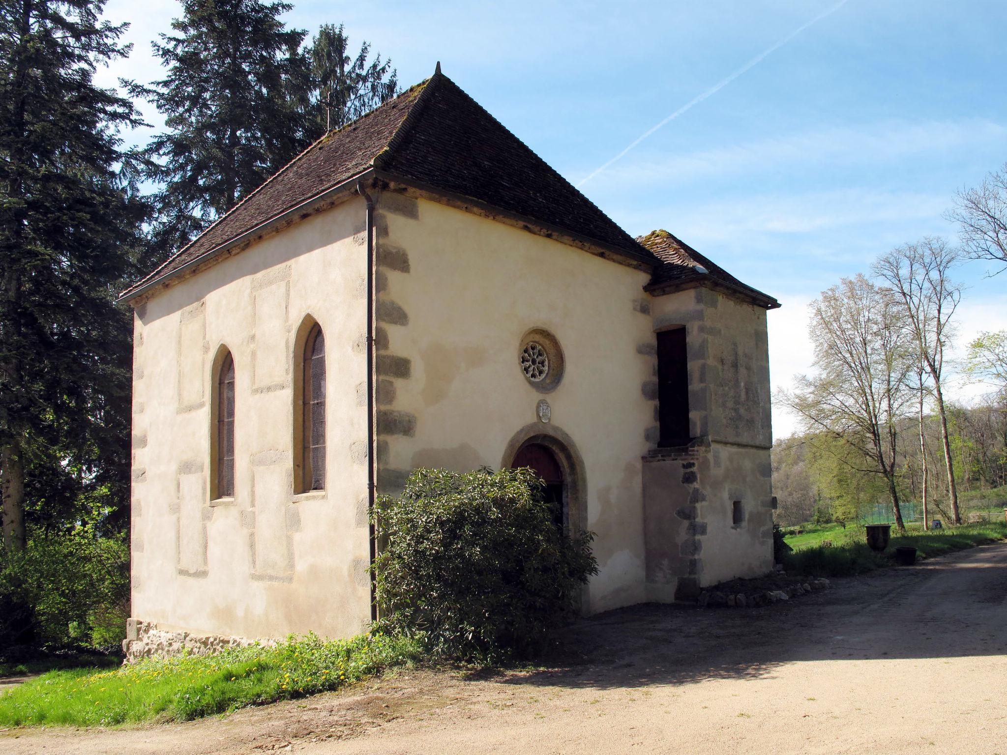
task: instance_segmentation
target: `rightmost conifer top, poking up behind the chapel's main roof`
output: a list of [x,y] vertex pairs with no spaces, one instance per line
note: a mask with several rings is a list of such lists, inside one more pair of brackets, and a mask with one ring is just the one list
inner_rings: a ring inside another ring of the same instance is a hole
[[338,129],[399,94],[398,72],[381,55],[368,63],[371,44],[364,42],[349,56],[349,38],[342,25],[322,24],[311,40],[311,78],[314,85],[313,135]]

